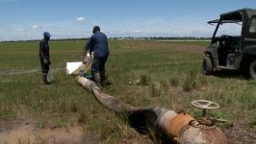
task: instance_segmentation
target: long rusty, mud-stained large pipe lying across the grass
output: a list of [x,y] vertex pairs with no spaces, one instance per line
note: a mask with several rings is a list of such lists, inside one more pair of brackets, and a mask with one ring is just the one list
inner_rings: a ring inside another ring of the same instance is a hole
[[96,99],[108,108],[129,113],[129,122],[138,132],[153,129],[157,143],[226,144],[226,136],[216,126],[200,124],[190,114],[176,113],[167,108],[134,108],[114,96],[101,92],[100,88],[84,77],[77,77],[83,88],[91,90]]

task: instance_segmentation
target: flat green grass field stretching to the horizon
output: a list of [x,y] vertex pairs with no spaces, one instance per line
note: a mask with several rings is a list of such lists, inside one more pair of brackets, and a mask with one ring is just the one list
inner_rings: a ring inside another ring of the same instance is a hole
[[[82,59],[85,42],[51,41],[50,79],[54,84],[50,86],[40,84],[38,42],[0,43],[0,139],[8,139],[10,135],[6,133],[18,132],[16,128],[31,126],[33,131],[28,134],[34,136],[19,133],[18,143],[47,143],[52,140],[47,134],[34,133],[73,132],[78,127],[76,132],[81,136],[69,138],[71,142],[80,139],[80,143],[153,143],[130,128],[125,115],[99,104],[89,91],[65,74],[66,61]],[[214,101],[220,108],[208,114],[229,120],[218,127],[231,143],[255,141],[256,81],[229,72],[203,76],[201,61],[208,44],[110,40],[106,70],[112,84],[104,92],[132,106],[185,108],[195,117],[201,110],[192,107],[192,100]]]

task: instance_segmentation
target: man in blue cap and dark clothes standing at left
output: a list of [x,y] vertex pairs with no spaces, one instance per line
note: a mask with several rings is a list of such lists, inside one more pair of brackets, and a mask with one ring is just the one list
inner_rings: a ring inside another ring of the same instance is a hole
[[48,41],[50,40],[50,33],[44,32],[43,39],[39,43],[39,60],[42,72],[42,84],[50,84],[47,81],[47,75],[49,72],[49,65],[51,65],[50,60],[50,47]]

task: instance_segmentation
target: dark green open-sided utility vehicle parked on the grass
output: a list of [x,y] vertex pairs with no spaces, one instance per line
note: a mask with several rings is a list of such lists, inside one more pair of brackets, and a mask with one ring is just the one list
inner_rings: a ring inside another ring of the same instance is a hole
[[256,79],[256,10],[222,13],[219,19],[208,23],[217,26],[211,45],[204,51],[203,74],[240,70]]

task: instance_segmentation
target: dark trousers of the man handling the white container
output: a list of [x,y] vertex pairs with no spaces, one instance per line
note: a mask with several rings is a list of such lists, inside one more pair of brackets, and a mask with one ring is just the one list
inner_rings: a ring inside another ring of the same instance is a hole
[[94,61],[91,65],[91,74],[94,76],[95,73],[100,73],[105,71],[105,63],[108,60],[108,57],[94,58]]

